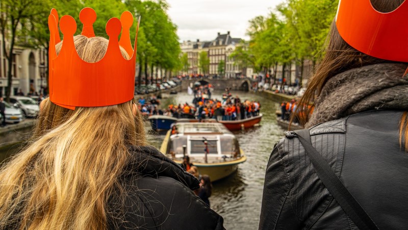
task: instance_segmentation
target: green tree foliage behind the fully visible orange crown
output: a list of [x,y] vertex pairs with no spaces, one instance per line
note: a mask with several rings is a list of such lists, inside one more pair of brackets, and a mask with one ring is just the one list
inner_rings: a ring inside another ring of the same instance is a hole
[[[6,96],[11,92],[11,63],[15,45],[30,48],[48,49],[49,30],[48,15],[52,8],[56,8],[59,16],[71,15],[77,21],[77,34],[81,33],[82,25],[79,12],[84,7],[91,7],[96,11],[97,19],[93,24],[95,35],[107,37],[106,23],[112,17],[120,18],[123,11],[130,11],[136,16],[131,28],[131,39],[137,26],[137,16],[141,16],[138,34],[137,61],[144,74],[152,75],[152,69],[171,72],[180,68],[181,53],[177,27],[170,20],[164,0],[2,0],[0,3],[0,30],[3,34],[3,50],[9,60],[9,85]],[[61,36],[63,39],[63,37]],[[46,58],[48,59],[48,58]],[[148,73],[148,67],[150,73]],[[139,83],[141,83],[139,72]],[[48,78],[47,78],[48,79]]]

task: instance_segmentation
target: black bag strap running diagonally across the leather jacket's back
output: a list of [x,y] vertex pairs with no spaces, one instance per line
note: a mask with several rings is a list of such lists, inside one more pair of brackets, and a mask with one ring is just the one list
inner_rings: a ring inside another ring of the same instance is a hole
[[309,129],[296,130],[294,132],[299,137],[299,141],[312,161],[313,168],[323,182],[323,185],[336,199],[337,203],[340,204],[341,208],[351,218],[355,225],[360,229],[378,229],[359,202],[357,202],[346,187],[344,187],[343,183],[336,176],[333,169],[327,164],[326,160],[313,147]]

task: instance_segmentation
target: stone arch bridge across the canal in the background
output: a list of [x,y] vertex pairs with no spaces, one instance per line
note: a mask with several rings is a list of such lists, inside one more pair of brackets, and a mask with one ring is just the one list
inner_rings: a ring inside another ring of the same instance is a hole
[[195,82],[201,85],[212,84],[215,90],[224,90],[226,87],[231,87],[232,90],[249,91],[251,80],[249,78],[242,79],[191,79],[182,80],[182,89],[187,90],[187,87],[194,86]]

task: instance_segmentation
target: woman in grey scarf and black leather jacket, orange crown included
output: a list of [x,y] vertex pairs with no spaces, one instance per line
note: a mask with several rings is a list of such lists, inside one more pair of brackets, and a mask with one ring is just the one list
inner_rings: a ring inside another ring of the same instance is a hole
[[406,15],[403,0],[340,2],[298,103],[314,112],[295,111],[308,129],[270,155],[259,229],[408,229]]

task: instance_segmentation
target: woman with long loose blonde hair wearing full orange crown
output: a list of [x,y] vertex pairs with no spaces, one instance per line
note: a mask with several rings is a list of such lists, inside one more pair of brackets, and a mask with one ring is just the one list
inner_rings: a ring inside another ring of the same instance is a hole
[[[82,21],[91,23],[92,11]],[[0,229],[222,229],[222,217],[191,191],[199,181],[146,142],[136,48],[119,47],[119,19],[108,21],[108,41],[89,27],[73,36],[75,20],[65,15],[55,44],[57,15],[48,17],[50,97],[28,146],[0,170]],[[123,17],[130,27],[132,14]]]

